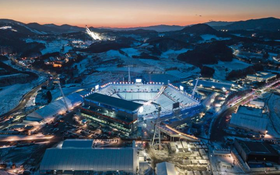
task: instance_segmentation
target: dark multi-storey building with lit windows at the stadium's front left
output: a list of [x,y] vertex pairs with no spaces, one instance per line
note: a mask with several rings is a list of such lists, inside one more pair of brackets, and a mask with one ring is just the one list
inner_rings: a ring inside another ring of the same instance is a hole
[[137,130],[137,112],[142,106],[143,104],[94,93],[85,97],[81,115],[99,125],[110,126],[130,135]]

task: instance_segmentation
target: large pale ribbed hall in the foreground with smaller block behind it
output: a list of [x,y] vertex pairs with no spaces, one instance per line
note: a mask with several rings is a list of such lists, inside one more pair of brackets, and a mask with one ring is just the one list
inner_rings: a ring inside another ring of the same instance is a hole
[[[88,174],[115,172],[136,174],[139,169],[139,156],[135,141],[126,148],[92,148],[93,140],[65,140],[62,147],[45,151],[40,164],[40,174]],[[84,145],[84,146],[83,146]],[[91,172],[91,173],[90,173]]]

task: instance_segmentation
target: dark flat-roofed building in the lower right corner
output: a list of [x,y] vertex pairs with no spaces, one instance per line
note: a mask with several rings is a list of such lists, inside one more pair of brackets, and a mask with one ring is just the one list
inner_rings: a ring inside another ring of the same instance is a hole
[[234,146],[237,152],[242,157],[243,161],[248,163],[259,161],[271,161],[279,163],[279,154],[274,148],[263,141],[245,141],[245,140],[234,140]]

